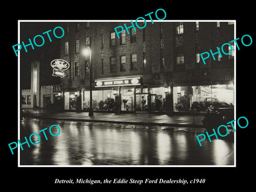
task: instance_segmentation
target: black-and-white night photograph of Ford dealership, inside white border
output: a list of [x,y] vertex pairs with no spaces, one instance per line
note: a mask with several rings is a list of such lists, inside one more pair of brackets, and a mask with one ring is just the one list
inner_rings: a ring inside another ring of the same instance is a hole
[[235,165],[235,130],[217,133],[234,120],[235,21],[20,21],[20,33],[44,46],[20,50],[20,141],[37,133],[21,166]]

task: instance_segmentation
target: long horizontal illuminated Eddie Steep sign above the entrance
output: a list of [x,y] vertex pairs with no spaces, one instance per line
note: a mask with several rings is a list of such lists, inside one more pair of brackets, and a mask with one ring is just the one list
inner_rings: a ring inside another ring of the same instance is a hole
[[140,85],[140,77],[95,80],[95,87]]

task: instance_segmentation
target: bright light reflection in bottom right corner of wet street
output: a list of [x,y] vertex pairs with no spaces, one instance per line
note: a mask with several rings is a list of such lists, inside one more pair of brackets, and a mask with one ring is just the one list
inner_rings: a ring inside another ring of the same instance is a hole
[[215,165],[226,165],[225,158],[227,158],[230,154],[230,149],[226,143],[226,141],[221,139],[215,139],[212,141],[211,145],[213,145],[213,158]]

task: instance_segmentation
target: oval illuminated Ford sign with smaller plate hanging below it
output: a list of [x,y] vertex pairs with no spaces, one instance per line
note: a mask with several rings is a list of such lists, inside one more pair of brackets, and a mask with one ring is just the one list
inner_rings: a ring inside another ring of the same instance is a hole
[[69,68],[69,63],[62,59],[54,59],[51,62],[53,68],[52,76],[60,76],[61,78],[65,77],[66,74],[63,72]]

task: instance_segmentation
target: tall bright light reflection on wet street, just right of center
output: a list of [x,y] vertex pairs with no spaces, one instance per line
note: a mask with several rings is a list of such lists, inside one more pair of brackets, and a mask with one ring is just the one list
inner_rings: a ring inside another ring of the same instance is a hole
[[171,156],[171,139],[166,133],[157,133],[157,151],[159,163],[165,164]]

